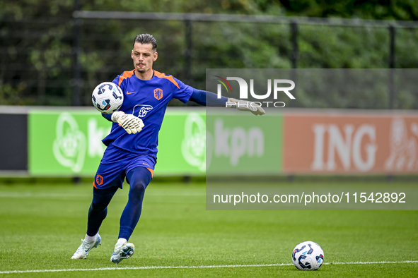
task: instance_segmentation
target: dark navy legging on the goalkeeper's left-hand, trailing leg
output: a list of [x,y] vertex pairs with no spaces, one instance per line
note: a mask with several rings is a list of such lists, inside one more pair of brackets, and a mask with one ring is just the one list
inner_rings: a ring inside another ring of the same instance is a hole
[[100,225],[108,214],[108,205],[113,195],[117,191],[116,186],[105,189],[93,188],[93,200],[88,209],[87,234],[95,236],[98,233]]

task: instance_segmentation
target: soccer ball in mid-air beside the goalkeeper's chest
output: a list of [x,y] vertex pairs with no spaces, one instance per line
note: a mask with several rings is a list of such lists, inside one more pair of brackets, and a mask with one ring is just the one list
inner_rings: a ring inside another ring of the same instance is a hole
[[110,114],[122,106],[123,92],[115,83],[103,82],[94,88],[91,101],[95,109],[102,113]]

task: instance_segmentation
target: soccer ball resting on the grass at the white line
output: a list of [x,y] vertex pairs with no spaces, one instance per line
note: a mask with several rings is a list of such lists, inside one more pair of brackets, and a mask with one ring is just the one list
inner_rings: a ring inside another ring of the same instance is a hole
[[303,241],[294,248],[291,259],[298,270],[318,270],[324,262],[324,251],[318,243]]

